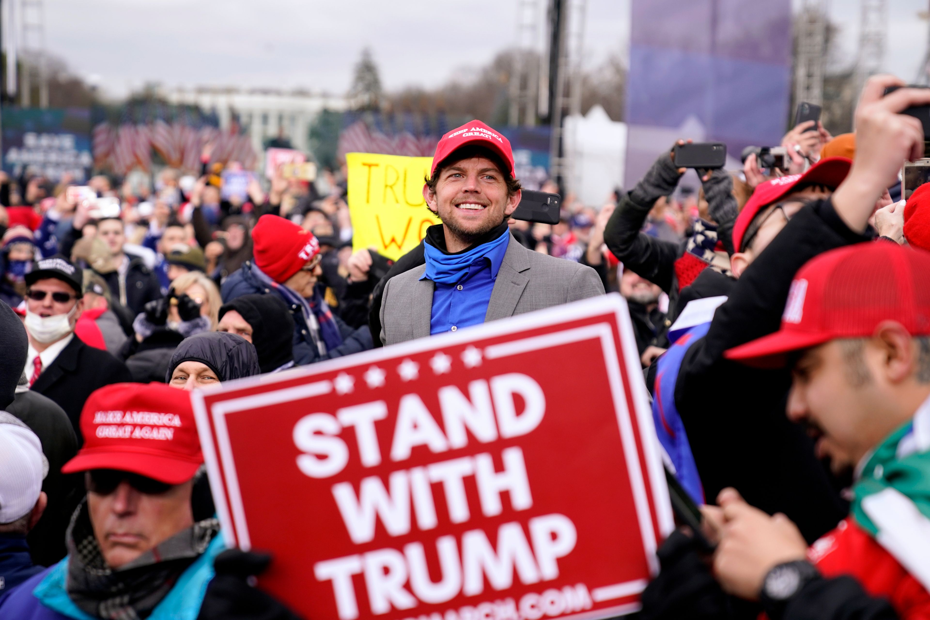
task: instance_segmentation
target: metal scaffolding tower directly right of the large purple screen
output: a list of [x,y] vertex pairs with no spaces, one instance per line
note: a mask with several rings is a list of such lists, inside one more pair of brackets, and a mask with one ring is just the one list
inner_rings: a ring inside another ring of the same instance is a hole
[[829,0],[803,0],[798,19],[798,58],[794,71],[794,98],[823,103],[823,73],[827,51]]

